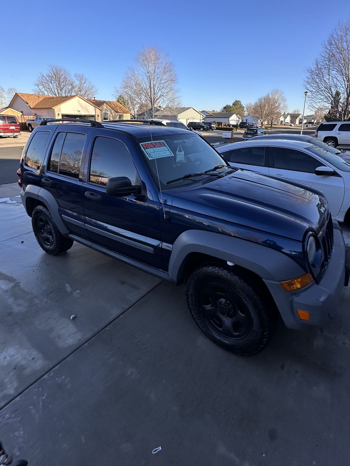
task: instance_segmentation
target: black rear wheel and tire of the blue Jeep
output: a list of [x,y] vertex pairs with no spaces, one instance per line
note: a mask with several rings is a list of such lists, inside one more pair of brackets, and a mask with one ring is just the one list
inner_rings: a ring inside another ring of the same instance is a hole
[[44,206],[36,206],[32,213],[32,227],[35,238],[45,253],[56,256],[68,251],[74,241],[59,231],[51,217],[50,212]]

